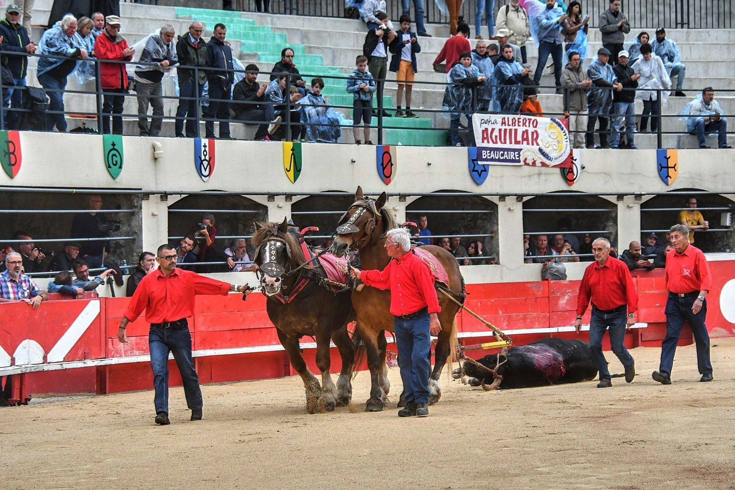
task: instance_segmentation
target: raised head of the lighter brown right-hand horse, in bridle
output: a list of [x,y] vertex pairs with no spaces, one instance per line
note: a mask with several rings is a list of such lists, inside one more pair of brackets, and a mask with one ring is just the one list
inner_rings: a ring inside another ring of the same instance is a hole
[[[381,210],[387,195],[383,192],[377,199],[362,195],[362,187],[357,187],[355,201],[337,223],[337,237],[331,245],[331,253],[342,257],[351,248],[360,249],[373,242],[376,229],[384,220]],[[387,226],[387,223],[382,223]]]

